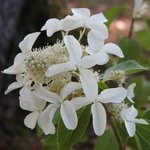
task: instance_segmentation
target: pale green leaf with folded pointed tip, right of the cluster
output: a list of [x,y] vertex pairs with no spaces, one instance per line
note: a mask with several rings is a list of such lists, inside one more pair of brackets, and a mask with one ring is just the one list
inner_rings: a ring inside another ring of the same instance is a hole
[[136,61],[129,60],[129,61],[125,61],[125,62],[116,64],[116,65],[112,66],[111,68],[107,69],[104,73],[103,79],[104,80],[109,79],[111,77],[111,72],[116,71],[116,70],[125,71],[125,73],[127,75],[130,75],[130,74],[138,73],[141,71],[145,71],[147,69],[148,68],[141,66]]

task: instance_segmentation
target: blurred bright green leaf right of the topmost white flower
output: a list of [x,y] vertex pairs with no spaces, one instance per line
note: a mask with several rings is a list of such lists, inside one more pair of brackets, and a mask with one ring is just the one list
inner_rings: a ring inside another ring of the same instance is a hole
[[106,25],[109,26],[111,22],[119,16],[120,12],[122,12],[124,8],[125,8],[124,5],[119,5],[119,6],[113,6],[112,8],[107,9],[104,12],[105,17],[108,20]]

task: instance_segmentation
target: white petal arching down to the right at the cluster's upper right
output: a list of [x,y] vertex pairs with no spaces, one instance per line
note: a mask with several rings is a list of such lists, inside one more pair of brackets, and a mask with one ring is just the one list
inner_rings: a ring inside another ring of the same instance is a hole
[[120,58],[123,58],[124,55],[122,53],[122,50],[120,49],[119,46],[117,46],[116,44],[113,44],[113,43],[107,43],[105,44],[102,49],[101,49],[101,52],[106,52],[108,54],[113,54],[113,55],[116,55]]

